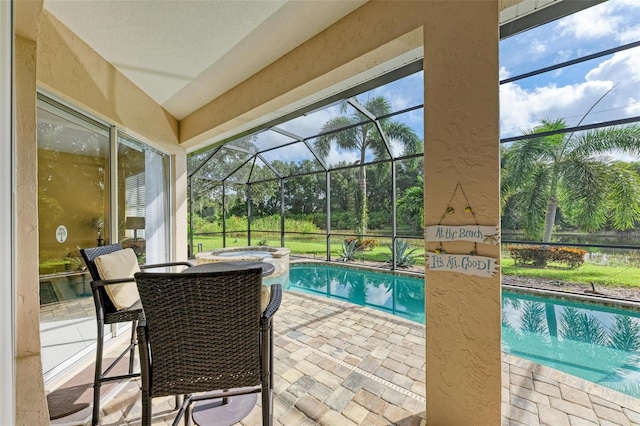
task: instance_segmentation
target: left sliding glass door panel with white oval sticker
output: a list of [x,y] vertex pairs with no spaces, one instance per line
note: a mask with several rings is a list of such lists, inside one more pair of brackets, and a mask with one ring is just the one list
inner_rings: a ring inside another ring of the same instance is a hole
[[40,336],[47,377],[96,340],[91,279],[78,249],[109,242],[109,128],[39,101],[37,131]]

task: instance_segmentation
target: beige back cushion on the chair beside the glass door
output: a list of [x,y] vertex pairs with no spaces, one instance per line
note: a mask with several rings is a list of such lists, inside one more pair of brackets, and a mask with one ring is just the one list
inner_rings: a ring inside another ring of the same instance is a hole
[[116,309],[126,309],[140,300],[138,287],[133,281],[133,274],[140,272],[138,258],[135,252],[126,248],[103,254],[95,260],[96,268],[103,280],[113,280],[118,278],[131,278],[130,283],[107,285],[104,287],[107,296],[111,299]]

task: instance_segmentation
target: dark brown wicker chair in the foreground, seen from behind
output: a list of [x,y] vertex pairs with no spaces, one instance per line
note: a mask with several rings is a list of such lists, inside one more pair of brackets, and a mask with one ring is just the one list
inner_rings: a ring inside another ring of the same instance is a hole
[[[271,425],[272,320],[280,307],[281,286],[271,286],[262,311],[260,268],[139,272],[135,279],[145,310],[138,325],[142,425],[151,425],[155,397],[185,395],[173,422],[177,425],[185,414],[185,423],[191,421],[196,401],[258,392],[262,423]],[[215,424],[223,424],[214,418]]]

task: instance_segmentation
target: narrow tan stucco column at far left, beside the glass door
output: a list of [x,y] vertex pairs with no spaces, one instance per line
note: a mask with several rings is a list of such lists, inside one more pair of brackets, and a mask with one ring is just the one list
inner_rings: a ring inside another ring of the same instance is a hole
[[16,92],[16,424],[49,424],[40,359],[36,43],[15,40]]

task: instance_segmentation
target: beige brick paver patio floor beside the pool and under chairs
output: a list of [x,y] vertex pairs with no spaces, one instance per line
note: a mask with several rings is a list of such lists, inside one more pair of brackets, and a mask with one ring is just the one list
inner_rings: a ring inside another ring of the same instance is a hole
[[[424,326],[285,292],[275,319],[275,425],[424,425]],[[154,400],[171,424],[173,398]],[[103,404],[102,425],[139,425],[139,383]],[[261,424],[259,407],[239,423]],[[503,354],[503,425],[640,425],[640,400]]]

